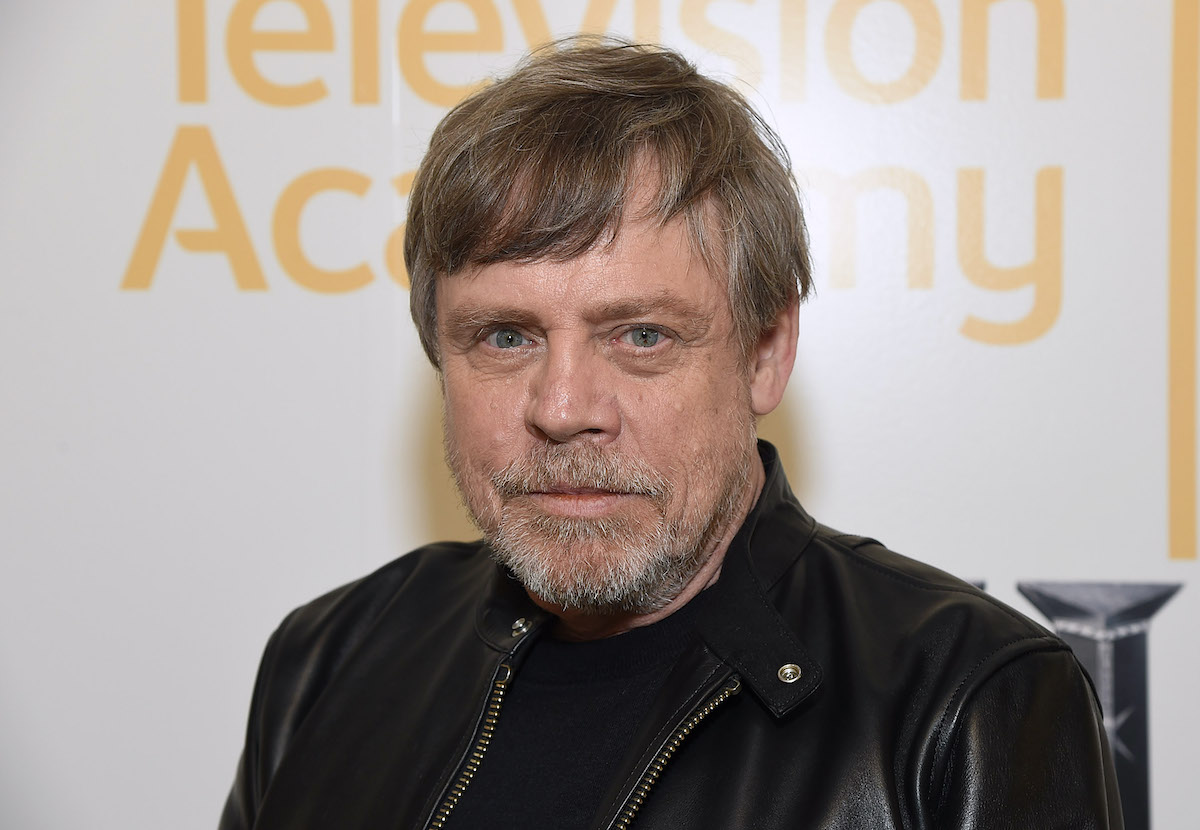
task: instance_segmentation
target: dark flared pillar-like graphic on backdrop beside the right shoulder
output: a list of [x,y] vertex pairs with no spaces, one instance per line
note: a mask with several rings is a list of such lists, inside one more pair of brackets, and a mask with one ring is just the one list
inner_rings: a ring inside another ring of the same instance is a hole
[[1180,584],[1019,582],[1092,675],[1117,771],[1126,830],[1150,830],[1146,644]]

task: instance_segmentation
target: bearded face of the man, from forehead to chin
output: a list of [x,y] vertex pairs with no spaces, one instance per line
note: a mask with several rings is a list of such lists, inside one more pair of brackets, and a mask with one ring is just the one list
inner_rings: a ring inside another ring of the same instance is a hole
[[674,599],[757,463],[726,289],[683,221],[443,278],[437,315],[446,455],[500,561],[550,606]]

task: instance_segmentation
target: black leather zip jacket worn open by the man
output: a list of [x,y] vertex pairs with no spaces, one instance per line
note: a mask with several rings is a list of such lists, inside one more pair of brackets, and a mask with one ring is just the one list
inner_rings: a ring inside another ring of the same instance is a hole
[[[762,453],[762,497],[701,595],[702,642],[593,826],[1122,828],[1099,706],[1062,640],[816,524]],[[544,624],[479,543],[421,548],[293,612],[221,828],[440,826]]]

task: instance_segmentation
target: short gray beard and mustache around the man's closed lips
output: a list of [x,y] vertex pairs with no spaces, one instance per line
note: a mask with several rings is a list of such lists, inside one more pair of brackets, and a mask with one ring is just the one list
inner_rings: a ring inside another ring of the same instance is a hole
[[[592,445],[539,447],[492,477],[499,516],[468,507],[492,557],[542,601],[584,613],[646,614],[674,600],[712,555],[749,487],[752,451],[751,441],[732,465],[703,470],[724,479],[715,505],[697,505],[676,521],[666,516],[674,491],[670,477]],[[452,452],[450,461],[457,476]],[[634,493],[656,516],[550,516],[521,503],[554,483]]]

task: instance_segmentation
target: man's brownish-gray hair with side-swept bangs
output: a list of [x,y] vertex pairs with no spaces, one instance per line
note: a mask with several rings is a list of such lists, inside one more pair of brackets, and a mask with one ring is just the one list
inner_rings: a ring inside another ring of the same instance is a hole
[[413,320],[433,365],[439,277],[578,257],[618,233],[647,179],[656,188],[647,218],[683,215],[694,251],[726,277],[744,349],[808,295],[787,150],[746,100],[665,47],[569,38],[532,53],[433,131],[404,237]]

